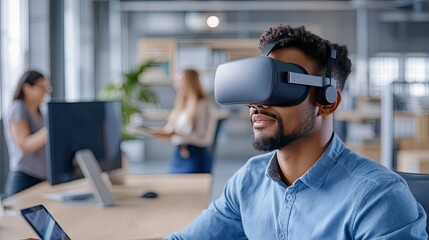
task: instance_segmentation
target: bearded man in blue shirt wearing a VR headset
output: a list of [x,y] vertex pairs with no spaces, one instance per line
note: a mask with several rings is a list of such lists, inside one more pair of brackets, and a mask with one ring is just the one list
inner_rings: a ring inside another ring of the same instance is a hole
[[260,48],[260,57],[218,67],[215,97],[250,106],[254,147],[268,153],[168,239],[427,239],[426,214],[405,181],[333,131],[351,71],[346,46],[279,25]]

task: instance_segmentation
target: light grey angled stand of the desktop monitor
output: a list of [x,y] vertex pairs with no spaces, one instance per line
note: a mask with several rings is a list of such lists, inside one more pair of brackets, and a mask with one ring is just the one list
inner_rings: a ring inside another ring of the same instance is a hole
[[114,206],[115,199],[101,177],[100,165],[89,149],[79,150],[75,154],[76,161],[85,176],[91,182],[94,198],[92,200],[67,201],[67,205]]

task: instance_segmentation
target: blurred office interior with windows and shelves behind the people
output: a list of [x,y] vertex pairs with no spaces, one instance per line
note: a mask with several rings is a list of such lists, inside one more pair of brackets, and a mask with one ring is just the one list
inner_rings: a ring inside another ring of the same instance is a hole
[[[143,120],[163,126],[174,102],[174,71],[198,69],[212,95],[216,67],[258,55],[261,33],[285,22],[349,47],[353,71],[335,125],[343,140],[392,169],[429,170],[427,0],[1,0],[0,11],[2,116],[27,68],[50,77],[53,99],[94,100],[103,86],[154,58],[158,67],[143,81],[159,104],[145,106]],[[219,109],[225,121],[214,151],[214,195],[258,153],[251,146],[247,109]],[[146,138],[136,145],[129,172],[167,170],[169,143]],[[1,169],[4,175],[7,169]]]

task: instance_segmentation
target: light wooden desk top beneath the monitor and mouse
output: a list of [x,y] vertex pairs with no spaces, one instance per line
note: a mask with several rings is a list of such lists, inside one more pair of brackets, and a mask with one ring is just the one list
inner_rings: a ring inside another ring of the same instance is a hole
[[[116,206],[95,208],[66,206],[43,197],[45,193],[89,188],[85,179],[56,186],[44,182],[5,200],[16,214],[0,216],[0,239],[37,237],[19,212],[37,204],[45,205],[71,239],[157,239],[192,221],[207,206],[210,187],[209,174],[129,175],[124,185],[111,188]],[[139,198],[149,190],[159,197]]]

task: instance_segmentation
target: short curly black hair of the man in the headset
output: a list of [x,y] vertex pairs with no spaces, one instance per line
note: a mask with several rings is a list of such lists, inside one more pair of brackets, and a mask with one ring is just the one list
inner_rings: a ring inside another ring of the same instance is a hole
[[[326,64],[330,55],[327,40],[307,31],[304,26],[292,27],[288,24],[279,24],[266,30],[259,39],[259,48],[264,48],[270,42],[278,42],[276,48],[295,47],[319,66],[319,73],[325,73]],[[351,72],[351,61],[348,58],[346,45],[332,44],[337,50],[337,58],[332,61],[332,77],[337,80],[337,89],[342,91],[347,77]]]

